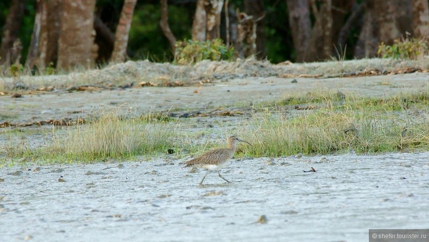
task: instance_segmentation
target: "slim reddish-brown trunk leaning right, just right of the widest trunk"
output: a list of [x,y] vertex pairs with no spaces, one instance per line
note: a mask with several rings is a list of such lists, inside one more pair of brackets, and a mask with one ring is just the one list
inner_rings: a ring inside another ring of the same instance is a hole
[[134,7],[137,0],[125,0],[122,7],[121,18],[118,27],[116,27],[115,46],[111,60],[113,62],[123,62],[127,53],[128,35],[133,20]]

